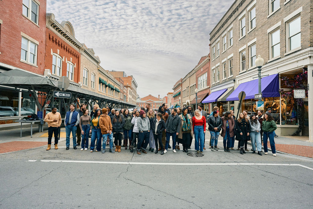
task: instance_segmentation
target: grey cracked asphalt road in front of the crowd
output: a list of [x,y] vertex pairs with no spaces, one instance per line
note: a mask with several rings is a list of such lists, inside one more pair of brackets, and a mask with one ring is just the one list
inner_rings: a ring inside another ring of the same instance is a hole
[[108,148],[105,154],[73,148],[2,154],[0,208],[313,207],[313,160],[203,154],[112,154]]

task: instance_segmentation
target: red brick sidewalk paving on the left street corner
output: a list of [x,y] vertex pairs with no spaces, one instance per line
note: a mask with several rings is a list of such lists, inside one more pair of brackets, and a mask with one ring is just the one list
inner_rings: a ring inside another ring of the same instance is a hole
[[13,141],[0,143],[0,153],[14,152],[24,149],[31,149],[42,147],[47,145],[47,142],[25,142],[25,141]]

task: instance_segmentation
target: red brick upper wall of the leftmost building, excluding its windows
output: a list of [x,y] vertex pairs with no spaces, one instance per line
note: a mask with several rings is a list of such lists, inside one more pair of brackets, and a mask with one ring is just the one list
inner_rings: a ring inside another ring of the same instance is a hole
[[[0,63],[12,65],[40,75],[44,74],[46,1],[38,0],[38,25],[23,15],[21,0],[0,1]],[[21,61],[22,36],[36,41],[37,59],[35,65]]]

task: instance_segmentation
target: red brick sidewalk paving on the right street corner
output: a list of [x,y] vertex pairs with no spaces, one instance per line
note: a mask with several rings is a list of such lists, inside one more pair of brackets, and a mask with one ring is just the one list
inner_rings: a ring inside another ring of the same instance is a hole
[[[267,142],[267,147],[271,147],[269,142]],[[275,148],[280,152],[313,158],[313,147],[310,146],[296,144],[275,144]]]

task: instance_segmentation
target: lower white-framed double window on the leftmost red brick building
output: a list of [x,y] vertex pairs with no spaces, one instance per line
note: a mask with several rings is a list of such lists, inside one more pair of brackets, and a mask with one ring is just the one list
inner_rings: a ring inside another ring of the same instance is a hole
[[21,60],[37,64],[37,44],[22,37]]

